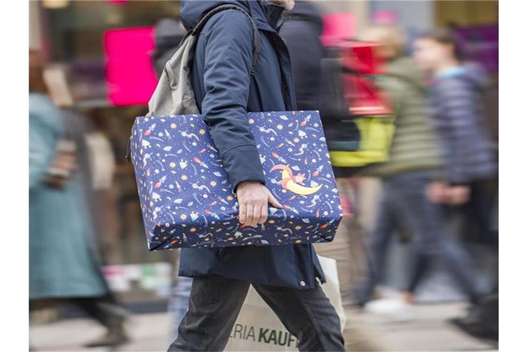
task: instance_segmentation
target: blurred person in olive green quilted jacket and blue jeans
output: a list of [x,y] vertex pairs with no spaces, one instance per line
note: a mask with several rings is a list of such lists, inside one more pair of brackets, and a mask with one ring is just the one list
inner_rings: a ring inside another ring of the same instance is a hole
[[364,175],[382,178],[383,195],[369,235],[370,273],[355,290],[355,302],[362,306],[373,294],[384,271],[384,256],[391,235],[401,227],[412,234],[411,272],[404,287],[405,300],[408,303],[413,300],[413,292],[425,269],[421,264],[434,260],[448,269],[474,302],[481,296],[474,265],[446,232],[442,206],[427,197],[429,185],[441,177],[441,159],[417,65],[402,55],[404,35],[392,25],[370,28],[364,40],[380,43],[376,54],[386,61],[378,83],[395,111],[395,135],[388,161],[363,170]]

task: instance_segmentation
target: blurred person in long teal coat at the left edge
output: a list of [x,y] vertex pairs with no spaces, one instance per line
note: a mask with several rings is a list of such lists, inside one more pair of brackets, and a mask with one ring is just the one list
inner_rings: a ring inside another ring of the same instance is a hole
[[88,347],[126,342],[124,313],[100,270],[73,129],[47,96],[30,52],[30,309],[67,301],[107,328]]

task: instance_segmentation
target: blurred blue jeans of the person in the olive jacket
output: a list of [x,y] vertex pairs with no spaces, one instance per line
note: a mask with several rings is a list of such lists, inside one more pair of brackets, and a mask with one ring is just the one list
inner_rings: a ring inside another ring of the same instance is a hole
[[428,172],[404,173],[382,181],[383,196],[373,233],[368,239],[369,275],[355,292],[356,302],[366,303],[384,271],[387,245],[398,225],[412,233],[410,275],[406,290],[414,292],[431,261],[443,265],[474,301],[478,292],[476,267],[469,254],[445,229],[443,207],[426,197]]

